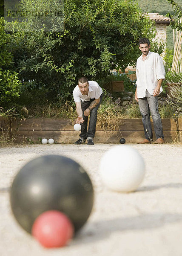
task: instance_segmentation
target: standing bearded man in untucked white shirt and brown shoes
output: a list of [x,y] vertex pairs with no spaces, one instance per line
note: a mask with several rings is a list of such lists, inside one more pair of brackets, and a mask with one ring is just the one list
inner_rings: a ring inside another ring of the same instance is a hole
[[139,40],[139,49],[142,55],[137,59],[135,99],[139,103],[139,109],[142,114],[145,139],[138,144],[152,143],[153,141],[150,112],[156,134],[156,141],[154,143],[164,143],[157,96],[163,91],[161,84],[165,79],[165,69],[162,58],[158,53],[150,52],[150,47],[151,45],[147,38]]

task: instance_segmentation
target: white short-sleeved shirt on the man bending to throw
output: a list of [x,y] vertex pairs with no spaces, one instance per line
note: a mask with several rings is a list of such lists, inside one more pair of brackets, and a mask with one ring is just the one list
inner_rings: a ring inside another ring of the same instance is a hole
[[73,97],[75,102],[89,101],[90,99],[99,99],[102,94],[102,88],[95,81],[88,81],[88,95],[82,95],[78,85],[73,90]]

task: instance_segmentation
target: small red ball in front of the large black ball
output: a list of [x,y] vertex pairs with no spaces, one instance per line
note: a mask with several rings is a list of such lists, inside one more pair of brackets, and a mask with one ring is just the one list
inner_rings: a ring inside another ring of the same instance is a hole
[[51,210],[36,218],[31,233],[46,248],[63,247],[73,237],[74,227],[65,214]]

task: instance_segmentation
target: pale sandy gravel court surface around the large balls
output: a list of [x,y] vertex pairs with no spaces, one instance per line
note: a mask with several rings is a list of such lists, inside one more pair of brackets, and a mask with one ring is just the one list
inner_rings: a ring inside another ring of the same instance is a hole
[[[0,256],[182,256],[182,145],[137,145],[146,175],[133,193],[106,189],[98,175],[102,155],[115,145],[19,145],[0,148]],[[122,145],[121,145],[122,146]],[[44,154],[79,162],[93,181],[94,209],[71,243],[46,250],[13,218],[8,188],[18,170]]]

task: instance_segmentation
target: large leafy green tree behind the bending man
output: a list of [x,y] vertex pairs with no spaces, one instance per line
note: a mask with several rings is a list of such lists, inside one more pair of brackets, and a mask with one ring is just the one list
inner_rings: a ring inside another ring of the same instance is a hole
[[68,98],[80,76],[97,80],[135,64],[139,38],[154,38],[151,26],[133,1],[65,0],[64,31],[14,33],[15,66],[29,87],[45,86]]

